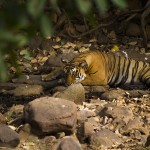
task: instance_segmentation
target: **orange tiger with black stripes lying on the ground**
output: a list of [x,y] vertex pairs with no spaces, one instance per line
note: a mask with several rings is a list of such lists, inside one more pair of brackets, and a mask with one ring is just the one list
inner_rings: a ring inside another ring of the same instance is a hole
[[150,64],[112,53],[81,53],[64,67],[66,83],[86,86],[143,85],[150,87]]

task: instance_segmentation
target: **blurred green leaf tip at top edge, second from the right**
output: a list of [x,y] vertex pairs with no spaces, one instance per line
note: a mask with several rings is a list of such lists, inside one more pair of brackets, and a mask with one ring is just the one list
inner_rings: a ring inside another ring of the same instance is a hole
[[108,1],[107,0],[95,0],[97,7],[99,10],[104,13],[108,8]]

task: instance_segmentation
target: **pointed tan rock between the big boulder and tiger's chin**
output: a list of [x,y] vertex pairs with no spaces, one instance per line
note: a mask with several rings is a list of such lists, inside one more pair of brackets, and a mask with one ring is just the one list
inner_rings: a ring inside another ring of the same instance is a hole
[[67,99],[76,104],[82,104],[85,101],[85,91],[82,84],[71,84],[66,90],[57,92],[53,97]]

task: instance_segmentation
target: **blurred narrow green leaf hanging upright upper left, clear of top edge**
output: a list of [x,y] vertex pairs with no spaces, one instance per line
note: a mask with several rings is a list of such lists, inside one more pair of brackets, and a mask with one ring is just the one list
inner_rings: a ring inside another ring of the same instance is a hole
[[41,17],[41,31],[44,37],[49,37],[52,35],[52,25],[49,21],[50,19],[46,15]]

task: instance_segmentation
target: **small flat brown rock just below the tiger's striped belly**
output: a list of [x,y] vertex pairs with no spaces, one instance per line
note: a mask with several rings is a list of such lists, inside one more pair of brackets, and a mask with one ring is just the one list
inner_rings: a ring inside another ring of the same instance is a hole
[[112,101],[114,99],[122,98],[124,94],[125,92],[122,90],[111,90],[103,93],[101,99]]

